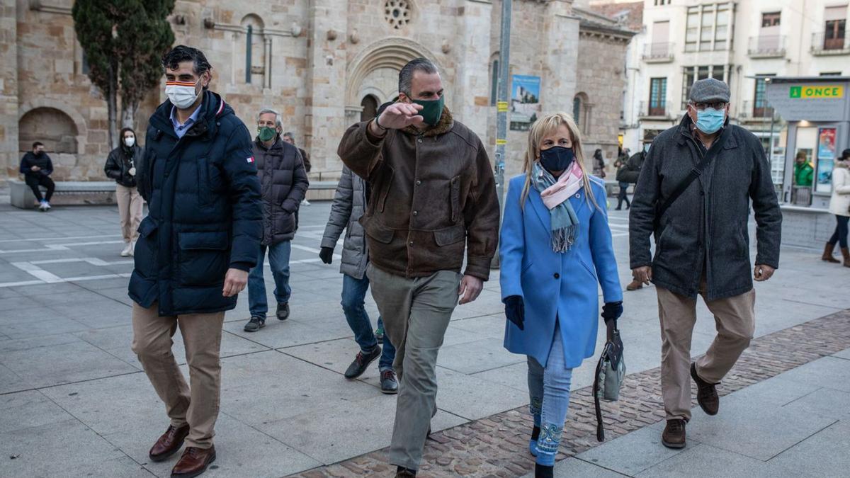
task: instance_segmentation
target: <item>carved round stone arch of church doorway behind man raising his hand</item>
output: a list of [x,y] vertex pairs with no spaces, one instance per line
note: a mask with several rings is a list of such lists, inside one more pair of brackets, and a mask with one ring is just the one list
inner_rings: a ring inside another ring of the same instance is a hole
[[435,61],[434,54],[428,48],[401,37],[384,38],[364,48],[348,64],[346,122],[350,124],[358,121],[364,108],[361,101],[365,97],[371,96],[377,105],[381,105],[398,96],[399,71],[408,61],[419,57]]

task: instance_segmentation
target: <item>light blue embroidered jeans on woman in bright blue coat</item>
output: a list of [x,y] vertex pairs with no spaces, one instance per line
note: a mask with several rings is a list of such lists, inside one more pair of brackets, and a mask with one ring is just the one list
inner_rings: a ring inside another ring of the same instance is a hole
[[564,433],[573,376],[573,369],[564,363],[564,340],[557,322],[546,367],[533,357],[528,358],[528,365],[530,412],[541,428],[537,439],[537,463],[552,466]]

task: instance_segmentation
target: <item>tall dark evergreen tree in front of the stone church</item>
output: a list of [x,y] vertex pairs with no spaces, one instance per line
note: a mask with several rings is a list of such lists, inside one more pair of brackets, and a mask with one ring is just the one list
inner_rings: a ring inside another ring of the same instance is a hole
[[88,77],[106,99],[113,148],[118,144],[118,95],[122,126],[133,128],[139,101],[159,83],[161,55],[174,42],[167,21],[173,8],[174,0],[74,2],[74,29],[88,60]]

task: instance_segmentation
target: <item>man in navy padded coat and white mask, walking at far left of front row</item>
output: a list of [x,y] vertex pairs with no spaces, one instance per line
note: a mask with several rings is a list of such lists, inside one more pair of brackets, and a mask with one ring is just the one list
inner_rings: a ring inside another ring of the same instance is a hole
[[[224,311],[256,265],[263,212],[251,135],[207,89],[207,58],[180,45],[162,66],[168,100],[150,117],[138,179],[150,213],[139,225],[130,277],[133,351],[171,419],[150,459],[164,460],[185,442],[172,476],[196,476],[215,460]],[[191,389],[171,350],[177,327]]]

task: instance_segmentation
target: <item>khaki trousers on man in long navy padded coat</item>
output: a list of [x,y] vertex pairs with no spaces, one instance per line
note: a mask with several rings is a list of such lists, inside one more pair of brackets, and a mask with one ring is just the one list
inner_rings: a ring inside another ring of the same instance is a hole
[[[154,303],[145,309],[133,303],[133,352],[139,356],[144,373],[156,395],[165,403],[175,427],[189,424],[187,447],[212,447],[221,393],[221,331],[224,312],[159,316]],[[189,381],[174,360],[173,336],[180,327],[189,364]]]

